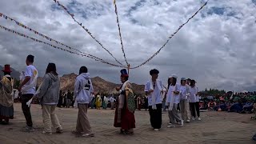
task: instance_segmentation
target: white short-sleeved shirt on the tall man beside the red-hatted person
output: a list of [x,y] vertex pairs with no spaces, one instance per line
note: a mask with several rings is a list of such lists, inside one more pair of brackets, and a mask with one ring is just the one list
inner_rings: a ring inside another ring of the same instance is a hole
[[[33,82],[34,77],[38,74],[38,70],[33,66],[26,66],[25,70],[25,77],[30,77],[30,80],[26,82],[24,86],[29,86],[31,82]],[[37,82],[34,83],[34,86],[31,87],[29,90],[22,91],[22,94],[35,94],[35,86],[37,85]]]

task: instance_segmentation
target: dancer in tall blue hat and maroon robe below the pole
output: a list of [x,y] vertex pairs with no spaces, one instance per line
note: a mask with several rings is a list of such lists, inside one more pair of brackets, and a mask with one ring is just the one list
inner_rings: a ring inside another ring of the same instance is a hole
[[121,70],[122,86],[117,87],[120,95],[116,101],[116,109],[114,115],[114,127],[120,127],[121,134],[134,134],[136,109],[134,94],[131,90],[131,83],[128,78],[126,69]]

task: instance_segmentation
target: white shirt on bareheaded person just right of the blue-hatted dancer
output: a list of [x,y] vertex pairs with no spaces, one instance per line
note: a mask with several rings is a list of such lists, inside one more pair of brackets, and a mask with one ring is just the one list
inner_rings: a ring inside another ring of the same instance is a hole
[[[162,86],[162,81],[159,81],[159,85]],[[150,83],[151,83],[151,80],[149,82],[146,82],[146,85],[145,85],[145,92],[148,92],[150,91]],[[152,102],[152,94],[154,94],[154,98],[155,98],[155,104],[159,104],[159,103],[162,103],[162,94],[161,94],[161,91],[162,90],[159,90],[158,89],[158,86],[157,84],[154,86],[154,92],[153,93],[150,93],[148,95],[148,104],[149,106],[152,106],[153,105],[153,102]]]

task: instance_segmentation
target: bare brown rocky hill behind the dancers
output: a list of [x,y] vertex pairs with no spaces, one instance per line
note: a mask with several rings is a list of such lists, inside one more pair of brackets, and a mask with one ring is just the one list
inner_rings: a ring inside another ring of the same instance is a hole
[[[61,90],[74,90],[74,81],[77,77],[77,74],[65,74],[61,77]],[[108,82],[100,77],[91,78],[94,86],[94,92],[98,93],[108,93],[108,94],[116,94],[117,91],[115,88],[120,86],[120,84],[115,84],[113,82]],[[42,82],[42,78],[38,78],[38,84]],[[132,84],[134,93],[136,94],[144,94],[144,85],[137,85],[135,83]]]

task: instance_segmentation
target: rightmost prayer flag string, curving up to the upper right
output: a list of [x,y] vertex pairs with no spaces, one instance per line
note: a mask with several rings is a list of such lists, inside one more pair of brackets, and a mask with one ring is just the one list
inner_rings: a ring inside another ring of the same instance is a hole
[[157,52],[155,52],[155,53],[154,53],[150,58],[148,58],[145,62],[142,62],[142,64],[140,64],[140,65],[138,65],[138,66],[131,67],[130,69],[136,69],[136,68],[138,68],[138,67],[140,67],[140,66],[145,65],[147,62],[150,62],[150,60],[151,60],[152,58],[154,58],[156,55],[158,55],[158,54],[160,53],[160,51],[162,50],[162,48],[164,48],[164,47],[166,46],[166,44],[170,41],[170,39],[173,38],[174,35],[177,34],[178,31],[181,30],[183,26],[185,26],[188,22],[190,22],[190,20],[191,20],[192,18],[194,18],[194,16],[197,15],[198,12],[199,12],[200,10],[202,10],[202,8],[203,8],[204,6],[207,5],[207,2],[208,2],[208,1],[209,1],[209,0],[207,0],[207,1],[194,13],[185,23],[183,23],[181,26],[178,27],[178,29],[177,29],[173,34],[170,35],[170,37],[167,39],[167,41],[162,45],[162,47],[161,47]]

